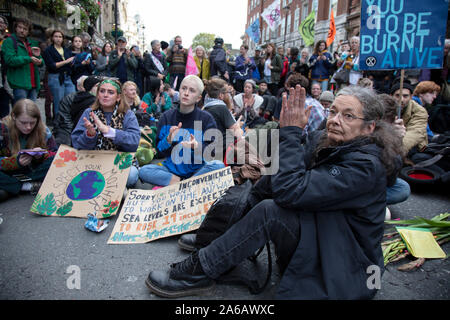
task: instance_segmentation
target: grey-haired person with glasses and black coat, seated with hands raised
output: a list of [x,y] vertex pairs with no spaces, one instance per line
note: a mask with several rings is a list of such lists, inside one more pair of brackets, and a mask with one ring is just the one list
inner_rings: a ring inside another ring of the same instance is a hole
[[279,170],[255,184],[250,211],[170,271],[152,271],[150,291],[164,297],[205,293],[214,279],[271,241],[282,274],[277,298],[376,294],[384,270],[386,186],[398,171],[401,139],[382,120],[384,108],[372,90],[341,90],[326,129],[307,136],[305,100],[300,85],[283,96]]

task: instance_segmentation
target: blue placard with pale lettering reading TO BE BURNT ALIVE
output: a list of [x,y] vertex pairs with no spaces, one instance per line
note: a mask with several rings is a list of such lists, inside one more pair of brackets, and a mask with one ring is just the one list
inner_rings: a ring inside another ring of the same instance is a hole
[[361,1],[361,70],[440,69],[447,0]]

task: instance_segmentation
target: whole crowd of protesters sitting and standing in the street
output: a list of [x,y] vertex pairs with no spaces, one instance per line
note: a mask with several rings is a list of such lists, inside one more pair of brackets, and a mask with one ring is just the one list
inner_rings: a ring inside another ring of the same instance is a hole
[[[237,184],[250,179],[256,189],[265,188],[268,196],[254,203],[253,214],[170,273],[152,272],[147,285],[166,297],[202,293],[271,240],[286,271],[280,297],[373,296],[358,278],[365,269],[357,266],[382,267],[387,205],[410,194],[398,172],[435,139],[428,123],[433,106],[450,102],[444,91],[450,42],[443,69],[413,70],[400,84],[395,71],[359,70],[358,37],[340,42],[333,53],[318,41],[311,52],[296,47],[285,52],[269,43],[250,56],[243,44],[237,57],[216,38],[211,50],[193,48],[198,71],[193,75],[186,72],[188,49],[180,36],[172,46],[154,40],[151,50],[141,53],[125,37],[99,48],[83,33],[67,46],[61,30],[48,30],[47,42],[38,43],[30,38],[28,20],[16,19],[11,34],[6,26],[0,17],[2,200],[36,193],[60,144],[136,152],[127,188],[139,181],[161,188],[229,165],[227,145],[213,159],[195,152],[214,142],[207,130],[217,129],[224,141],[231,136],[236,148],[260,129],[279,129],[278,172],[263,176],[260,161],[240,163],[234,171]],[[39,96],[45,115],[36,105]],[[149,136],[151,142],[142,144]],[[254,147],[258,159],[260,146]],[[301,228],[308,223],[315,233]],[[337,246],[360,256],[332,261]],[[350,275],[347,264],[358,270]],[[298,270],[315,280],[308,282]],[[327,270],[340,280],[321,278]]]

